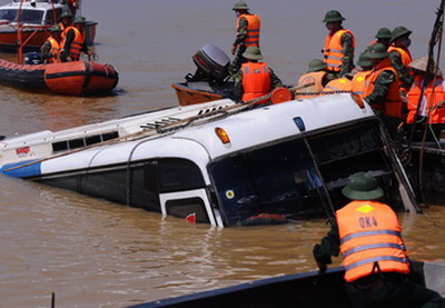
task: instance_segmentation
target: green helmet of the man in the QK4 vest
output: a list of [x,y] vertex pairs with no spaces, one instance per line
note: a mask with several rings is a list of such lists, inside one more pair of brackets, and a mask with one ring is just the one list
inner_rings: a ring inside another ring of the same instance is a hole
[[383,190],[378,187],[376,179],[367,172],[350,176],[342,192],[352,200],[375,200],[383,196]]

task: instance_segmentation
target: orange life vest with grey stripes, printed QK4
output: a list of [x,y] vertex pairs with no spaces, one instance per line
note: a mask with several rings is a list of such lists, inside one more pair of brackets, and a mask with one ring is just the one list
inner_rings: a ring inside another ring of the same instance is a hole
[[[372,274],[409,272],[409,260],[396,213],[376,201],[352,201],[336,212],[345,280]],[[375,268],[375,262],[378,268]]]

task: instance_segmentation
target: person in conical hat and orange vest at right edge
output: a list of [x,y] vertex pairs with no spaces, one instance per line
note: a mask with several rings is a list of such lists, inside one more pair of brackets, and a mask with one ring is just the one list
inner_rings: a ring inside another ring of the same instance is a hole
[[[413,140],[416,141],[423,139],[425,125],[428,125],[426,139],[428,141],[438,140],[441,138],[442,125],[445,123],[444,78],[437,68],[437,72],[431,72],[432,76],[436,74],[436,77],[432,78],[425,87],[427,60],[427,57],[424,57],[409,63],[409,67],[414,71],[414,82],[407,95],[408,116],[406,123],[408,125],[408,131],[413,133]],[[422,88],[424,88],[424,92],[421,107],[418,108]]]

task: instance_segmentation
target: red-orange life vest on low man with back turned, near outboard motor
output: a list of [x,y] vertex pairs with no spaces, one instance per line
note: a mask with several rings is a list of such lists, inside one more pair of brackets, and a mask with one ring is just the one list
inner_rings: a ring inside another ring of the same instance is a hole
[[[243,101],[263,97],[270,92],[270,71],[265,62],[247,62],[241,64]],[[258,102],[266,102],[268,99]]]

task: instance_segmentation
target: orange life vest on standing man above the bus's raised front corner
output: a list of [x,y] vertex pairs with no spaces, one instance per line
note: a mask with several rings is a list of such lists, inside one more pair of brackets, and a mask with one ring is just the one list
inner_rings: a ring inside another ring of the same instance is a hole
[[353,47],[355,48],[354,33],[347,29],[340,29],[334,34],[329,32],[325,39],[324,61],[328,70],[340,71],[342,59],[345,56],[345,51],[342,48],[342,37],[345,33],[348,33],[353,38]]

